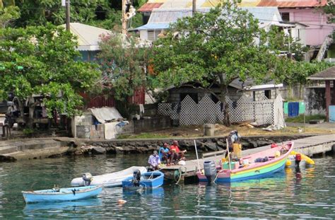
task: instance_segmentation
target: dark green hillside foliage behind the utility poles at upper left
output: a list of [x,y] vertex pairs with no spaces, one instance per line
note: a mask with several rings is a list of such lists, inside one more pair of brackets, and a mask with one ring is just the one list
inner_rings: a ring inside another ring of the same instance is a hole
[[[134,1],[134,6],[138,8],[145,1]],[[54,0],[17,0],[16,5],[20,8],[21,18],[16,25],[25,27],[26,25],[45,25],[50,22],[54,25],[65,23],[65,7],[61,6],[61,1]],[[105,29],[121,29],[121,8],[122,1],[119,0],[72,0],[71,1],[71,22],[95,25]],[[141,15],[132,18],[133,26],[141,24]]]

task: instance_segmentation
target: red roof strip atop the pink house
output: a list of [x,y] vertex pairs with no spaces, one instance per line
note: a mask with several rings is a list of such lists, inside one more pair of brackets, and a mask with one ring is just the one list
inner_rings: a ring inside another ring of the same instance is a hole
[[327,0],[298,0],[298,1],[276,1],[276,0],[261,0],[257,6],[270,7],[275,6],[278,8],[308,8],[324,6]]

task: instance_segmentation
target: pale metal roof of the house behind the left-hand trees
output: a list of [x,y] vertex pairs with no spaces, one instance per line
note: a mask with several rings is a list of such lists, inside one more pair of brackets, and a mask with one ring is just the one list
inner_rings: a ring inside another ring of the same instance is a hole
[[[65,25],[61,25],[65,28]],[[78,37],[78,50],[99,50],[100,35],[110,35],[112,31],[82,23],[70,23],[70,32]]]

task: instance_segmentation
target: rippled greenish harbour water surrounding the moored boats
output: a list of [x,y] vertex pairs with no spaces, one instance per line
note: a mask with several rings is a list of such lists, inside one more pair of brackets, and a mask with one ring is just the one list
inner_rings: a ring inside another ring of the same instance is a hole
[[[68,187],[82,173],[110,173],[145,166],[146,156],[63,157],[0,163],[1,219],[333,219],[335,218],[335,158],[315,159],[316,166],[286,169],[275,178],[230,185],[175,185],[146,192],[107,188],[98,198],[77,202],[25,204],[22,190],[42,190],[54,184]],[[126,204],[117,204],[119,199]]]

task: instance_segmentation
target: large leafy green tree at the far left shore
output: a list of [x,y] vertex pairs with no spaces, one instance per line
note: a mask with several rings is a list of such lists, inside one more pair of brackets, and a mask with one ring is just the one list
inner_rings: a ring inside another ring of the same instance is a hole
[[78,93],[98,79],[97,66],[75,61],[80,56],[76,45],[71,33],[50,24],[0,29],[0,96],[13,92],[21,113],[29,100],[29,117],[23,120],[30,127],[38,104],[34,94],[44,97],[49,117],[54,110],[71,117],[82,104]]

